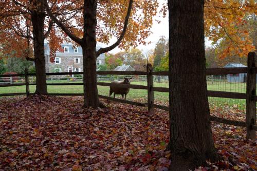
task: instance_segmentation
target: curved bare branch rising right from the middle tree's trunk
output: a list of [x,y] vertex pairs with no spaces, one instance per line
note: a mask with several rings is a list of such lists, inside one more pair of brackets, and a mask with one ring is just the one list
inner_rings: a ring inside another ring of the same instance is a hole
[[126,14],[125,21],[124,21],[124,27],[123,27],[123,30],[120,34],[119,39],[111,46],[108,46],[108,47],[105,47],[105,48],[100,48],[96,53],[97,56],[99,56],[102,53],[113,50],[114,48],[116,48],[120,44],[120,42],[122,41],[122,39],[123,39],[123,37],[126,33],[128,19],[130,18],[130,14],[131,14],[131,10],[132,10],[132,4],[133,4],[133,0],[130,0],[130,3],[128,4],[128,8],[127,8],[127,14]]

